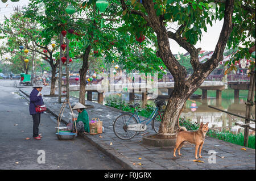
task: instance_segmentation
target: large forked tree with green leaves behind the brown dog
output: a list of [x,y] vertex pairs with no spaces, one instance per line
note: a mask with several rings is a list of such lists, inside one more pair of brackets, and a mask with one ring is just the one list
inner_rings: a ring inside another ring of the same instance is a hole
[[[255,22],[247,21],[247,19],[250,18],[244,13],[244,11],[246,11],[246,14],[255,17],[255,11],[251,11],[255,6],[255,1],[251,1],[251,4],[246,3],[246,1],[238,0],[120,1],[124,12],[123,14],[125,14],[123,19],[129,23],[129,26],[134,26],[131,20],[138,19],[139,17],[143,19],[143,21],[141,21],[143,27],[150,28],[154,31],[157,37],[156,47],[158,48],[156,55],[161,58],[164,65],[166,65],[174,77],[174,91],[168,100],[159,132],[166,135],[175,135],[179,115],[185,101],[196,91],[201,83],[204,82],[204,79],[208,77],[213,69],[218,66],[218,63],[223,60],[223,52],[228,41],[232,42],[236,40],[237,37],[239,39],[238,41],[243,41],[240,36],[230,36],[231,33],[237,33],[234,32],[236,31],[235,27],[240,26],[239,23],[245,22],[244,19],[246,19],[247,24],[251,23],[255,26]],[[215,3],[216,12],[209,11],[209,7],[211,7],[210,2]],[[241,9],[243,9],[243,13],[241,13]],[[241,18],[234,18],[238,16],[241,16]],[[224,22],[214,53],[208,61],[201,64],[199,62],[199,52],[201,48],[196,48],[195,44],[201,39],[202,30],[207,31],[207,24],[212,26],[214,20],[222,19],[224,19]],[[236,23],[234,20],[236,20]],[[169,23],[176,23],[179,27],[175,31],[170,31],[167,28]],[[247,24],[242,24],[242,26],[246,27]],[[139,25],[140,24],[137,24],[137,26]],[[251,34],[251,36],[255,39],[255,33],[254,35]],[[193,74],[187,79],[187,71],[184,66],[180,65],[179,61],[177,61],[172,53],[172,45],[169,39],[175,40],[180,47],[183,47],[190,54]]]

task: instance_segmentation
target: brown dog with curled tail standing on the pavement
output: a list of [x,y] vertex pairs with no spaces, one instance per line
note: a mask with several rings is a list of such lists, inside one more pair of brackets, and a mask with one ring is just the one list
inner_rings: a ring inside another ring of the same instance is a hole
[[[180,154],[180,149],[181,147],[184,145],[185,141],[190,142],[191,144],[195,144],[196,145],[196,150],[195,150],[195,158],[198,159],[197,157],[197,150],[199,148],[199,157],[202,158],[201,156],[201,150],[203,148],[203,144],[204,144],[204,138],[205,138],[205,134],[208,132],[208,124],[200,124],[200,128],[199,130],[195,131],[195,132],[189,132],[187,131],[187,129],[179,129],[178,130],[178,134],[177,134],[177,140],[176,140],[176,145],[174,148],[174,157],[176,157],[176,149],[178,150],[179,155]],[[185,130],[185,131],[184,131]]]

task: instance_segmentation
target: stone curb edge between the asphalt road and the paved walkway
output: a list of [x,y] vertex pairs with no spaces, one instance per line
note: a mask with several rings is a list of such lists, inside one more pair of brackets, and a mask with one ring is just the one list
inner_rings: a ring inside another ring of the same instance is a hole
[[[23,92],[22,90],[19,89],[20,92],[22,92],[24,95],[26,95],[29,98],[29,95],[26,94],[26,92]],[[25,98],[26,99],[26,98]],[[28,100],[28,99],[27,99]],[[29,101],[29,100],[28,100]],[[56,113],[52,112],[51,110],[49,110],[49,108],[47,108],[47,112],[51,113],[53,116],[55,116],[56,118],[59,117],[59,115],[56,115]],[[60,120],[62,123],[64,124],[68,124],[67,121],[61,119]],[[98,144],[96,141],[93,141],[92,138],[86,136],[86,134],[84,133],[79,133],[79,135],[84,138],[86,141],[90,142],[90,144],[92,144],[93,146],[95,146],[98,150],[102,151],[102,153],[104,153],[105,155],[108,155],[111,159],[113,159],[113,161],[115,161],[116,163],[118,163],[119,165],[121,165],[124,169],[127,170],[138,170],[137,167],[133,166],[132,163],[128,163],[129,161],[124,158],[121,154],[118,153],[114,153],[113,149],[108,148],[106,145],[101,145]]]

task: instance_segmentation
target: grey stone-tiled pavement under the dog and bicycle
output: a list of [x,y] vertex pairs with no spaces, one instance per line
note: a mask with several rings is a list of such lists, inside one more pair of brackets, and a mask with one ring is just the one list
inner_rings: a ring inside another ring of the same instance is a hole
[[[19,89],[23,94],[29,95],[32,88]],[[49,94],[49,87],[45,87],[42,94]],[[27,98],[29,100],[29,98]],[[56,97],[43,97],[47,109],[56,117],[59,115],[62,103],[58,103]],[[71,106],[78,102],[77,98],[70,98]],[[241,150],[243,146],[234,145],[229,142],[221,141],[215,138],[206,137],[202,156],[202,162],[193,162],[195,146],[191,144],[184,145],[181,149],[181,156],[177,155],[173,158],[174,147],[156,148],[154,146],[143,145],[142,137],[144,135],[155,134],[151,125],[145,132],[141,132],[131,140],[120,140],[113,132],[113,121],[123,111],[116,108],[104,106],[86,100],[86,104],[94,106],[94,108],[86,108],[89,115],[89,120],[93,117],[98,117],[103,122],[104,133],[96,135],[82,134],[80,136],[88,140],[92,145],[96,146],[104,154],[108,155],[115,162],[122,165],[125,169],[137,170],[201,170],[201,169],[254,169],[255,170],[255,150],[246,148]],[[71,113],[64,111],[62,121],[68,123],[71,119]],[[216,152],[216,163],[209,163],[208,160],[213,161],[212,154],[208,154],[210,150]]]

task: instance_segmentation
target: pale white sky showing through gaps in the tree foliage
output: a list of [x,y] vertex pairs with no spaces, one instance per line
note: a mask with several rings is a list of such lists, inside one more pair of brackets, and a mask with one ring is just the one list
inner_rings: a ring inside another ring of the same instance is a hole
[[[14,12],[13,7],[14,6],[26,6],[28,5],[29,1],[28,0],[20,0],[19,2],[11,2],[8,0],[6,3],[3,3],[0,1],[0,22],[2,23],[4,18],[4,15],[7,16],[7,18],[10,17],[10,15]],[[218,41],[218,37],[220,36],[221,28],[222,28],[223,20],[221,22],[213,22],[213,26],[210,27],[208,25],[207,32],[203,31],[203,36],[201,41],[197,42],[195,45],[196,48],[201,48],[202,50],[214,50],[215,46]],[[174,27],[175,28],[175,27]],[[171,51],[173,54],[177,53],[186,53],[187,50],[184,48],[180,47],[174,40],[169,40],[170,41],[170,47]]]

